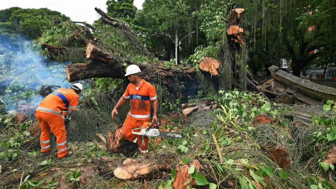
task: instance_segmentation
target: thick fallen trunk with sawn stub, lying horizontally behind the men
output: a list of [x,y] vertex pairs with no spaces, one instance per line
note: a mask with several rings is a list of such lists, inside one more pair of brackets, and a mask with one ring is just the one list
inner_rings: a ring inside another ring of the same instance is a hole
[[[127,65],[136,64],[140,67],[142,77],[151,83],[159,83],[167,87],[168,92],[182,95],[196,95],[199,79],[196,70],[191,66],[184,68],[168,68],[160,63],[135,63],[123,61],[119,55],[110,55],[94,43],[89,43],[86,57],[93,60],[89,63],[76,63],[66,66],[68,81],[94,77],[111,77],[126,79],[125,68]],[[127,65],[124,66],[124,63]]]

